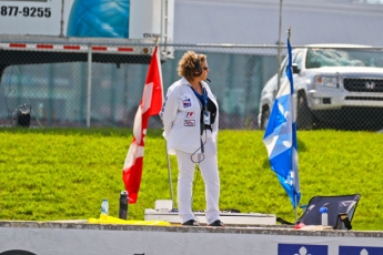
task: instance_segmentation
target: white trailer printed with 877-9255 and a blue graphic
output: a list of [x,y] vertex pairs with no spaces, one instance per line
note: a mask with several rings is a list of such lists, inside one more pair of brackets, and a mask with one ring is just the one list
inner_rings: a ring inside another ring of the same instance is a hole
[[173,58],[165,44],[173,42],[174,0],[87,2],[0,0],[0,74],[26,61],[87,61],[90,51],[93,62],[149,63],[155,39],[161,60]]

